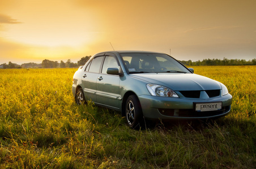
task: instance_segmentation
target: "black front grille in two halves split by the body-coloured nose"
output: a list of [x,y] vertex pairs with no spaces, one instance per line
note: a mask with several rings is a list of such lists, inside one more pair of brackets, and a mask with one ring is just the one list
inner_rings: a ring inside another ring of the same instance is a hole
[[[188,98],[200,98],[200,92],[199,90],[195,91],[180,91],[184,97]],[[220,95],[220,90],[206,90],[206,93],[209,97],[216,97]]]

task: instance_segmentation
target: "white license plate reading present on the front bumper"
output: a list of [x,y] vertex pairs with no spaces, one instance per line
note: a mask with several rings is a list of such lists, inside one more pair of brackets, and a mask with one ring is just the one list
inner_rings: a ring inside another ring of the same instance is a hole
[[220,110],[222,107],[221,102],[216,103],[196,103],[195,104],[195,111],[197,112],[206,112],[206,111],[214,111]]

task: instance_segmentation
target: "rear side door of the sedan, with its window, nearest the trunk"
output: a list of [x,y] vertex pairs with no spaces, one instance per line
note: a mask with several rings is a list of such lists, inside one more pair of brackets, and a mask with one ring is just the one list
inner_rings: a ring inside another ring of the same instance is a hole
[[84,95],[86,100],[96,100],[96,92],[97,92],[97,78],[99,76],[102,61],[104,56],[95,56],[91,60],[84,70],[83,77],[82,77],[82,87],[84,90]]

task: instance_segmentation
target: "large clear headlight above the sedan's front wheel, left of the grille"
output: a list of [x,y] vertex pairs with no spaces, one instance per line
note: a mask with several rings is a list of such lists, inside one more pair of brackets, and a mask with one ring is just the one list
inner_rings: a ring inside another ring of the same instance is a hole
[[152,96],[178,97],[170,88],[158,84],[147,84],[147,89]]

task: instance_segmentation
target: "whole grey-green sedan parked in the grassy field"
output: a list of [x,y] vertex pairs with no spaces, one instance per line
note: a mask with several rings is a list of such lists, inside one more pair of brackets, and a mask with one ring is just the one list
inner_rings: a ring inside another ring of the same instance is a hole
[[194,73],[172,56],[148,51],[106,51],[92,56],[73,77],[72,95],[122,113],[128,126],[145,119],[209,119],[227,115],[227,87]]

